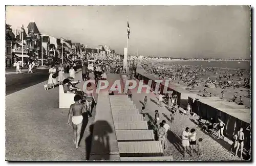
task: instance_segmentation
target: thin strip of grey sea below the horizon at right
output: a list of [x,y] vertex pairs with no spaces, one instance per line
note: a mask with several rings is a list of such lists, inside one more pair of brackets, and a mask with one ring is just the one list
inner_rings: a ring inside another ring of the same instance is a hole
[[250,61],[172,61],[165,64],[183,64],[203,67],[240,68],[250,70]]

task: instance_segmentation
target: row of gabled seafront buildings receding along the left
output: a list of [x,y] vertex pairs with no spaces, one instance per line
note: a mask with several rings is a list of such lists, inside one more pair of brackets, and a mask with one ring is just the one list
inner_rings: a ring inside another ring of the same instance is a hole
[[99,45],[97,48],[89,48],[88,45],[79,42],[72,42],[67,38],[57,38],[48,34],[40,33],[35,22],[29,22],[24,26],[12,29],[6,25],[6,67],[11,67],[16,61],[43,59],[76,60],[84,58],[102,58],[115,54],[106,45]]

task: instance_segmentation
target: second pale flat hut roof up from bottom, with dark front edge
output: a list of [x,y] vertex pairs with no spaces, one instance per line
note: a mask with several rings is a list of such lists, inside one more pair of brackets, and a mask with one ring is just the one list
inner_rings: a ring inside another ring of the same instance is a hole
[[120,157],[163,156],[161,141],[118,142]]

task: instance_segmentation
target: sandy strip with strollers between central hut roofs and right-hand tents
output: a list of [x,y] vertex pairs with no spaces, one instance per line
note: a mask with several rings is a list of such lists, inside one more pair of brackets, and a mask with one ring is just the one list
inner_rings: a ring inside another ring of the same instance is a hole
[[[137,80],[138,81],[138,80]],[[223,140],[216,140],[215,136],[209,136],[208,134],[202,132],[197,125],[193,122],[198,117],[191,117],[182,114],[176,114],[174,116],[173,123],[169,122],[171,112],[166,108],[166,105],[163,104],[163,107],[159,107],[156,103],[158,102],[155,94],[138,94],[137,89],[132,90],[132,101],[136,104],[136,108],[141,109],[144,102],[144,97],[147,96],[147,106],[145,109],[146,112],[146,121],[149,121],[151,118],[155,117],[155,110],[159,111],[160,122],[165,120],[167,124],[170,125],[170,131],[167,136],[168,149],[165,150],[165,156],[173,156],[174,160],[240,160],[239,157],[233,156],[227,149],[230,148],[232,141],[225,138]],[[183,158],[182,147],[181,147],[181,135],[186,127],[190,129],[195,128],[197,132],[197,140],[203,138],[202,142],[202,155],[200,157],[189,156]]]

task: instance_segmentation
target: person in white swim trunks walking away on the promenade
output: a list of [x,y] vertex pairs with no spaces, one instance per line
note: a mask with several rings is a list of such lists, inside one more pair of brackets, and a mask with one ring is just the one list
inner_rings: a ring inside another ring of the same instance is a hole
[[86,112],[86,108],[83,104],[81,104],[82,98],[79,94],[76,94],[74,97],[74,104],[71,104],[68,114],[68,125],[70,125],[70,118],[72,120],[72,126],[74,129],[74,140],[73,143],[76,145],[76,148],[78,148],[79,139],[80,139],[80,133],[81,133],[81,127],[82,127],[82,113]]

